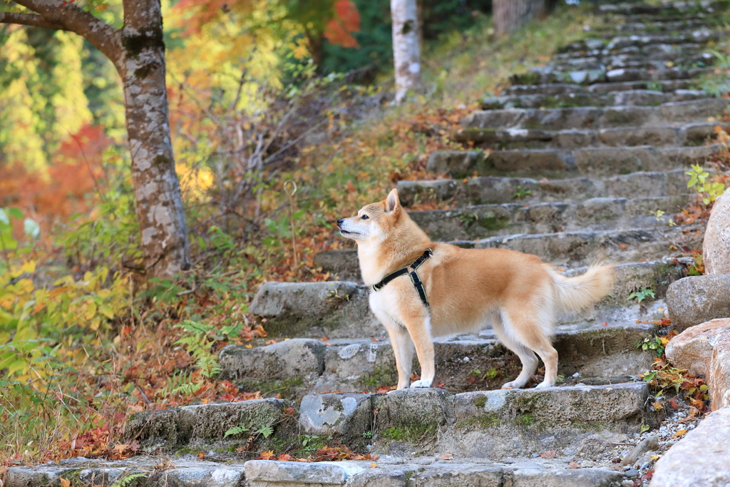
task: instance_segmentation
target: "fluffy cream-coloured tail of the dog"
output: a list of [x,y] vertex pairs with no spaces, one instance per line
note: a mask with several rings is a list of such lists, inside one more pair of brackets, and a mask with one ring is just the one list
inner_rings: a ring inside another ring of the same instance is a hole
[[583,275],[565,277],[548,267],[553,278],[555,300],[562,310],[580,311],[593,305],[613,289],[613,264],[594,264]]

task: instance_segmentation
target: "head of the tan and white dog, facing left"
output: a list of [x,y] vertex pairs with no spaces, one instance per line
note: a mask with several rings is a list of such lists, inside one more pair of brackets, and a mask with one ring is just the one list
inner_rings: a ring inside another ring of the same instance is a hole
[[383,240],[391,234],[403,209],[398,190],[393,189],[382,202],[366,204],[358,214],[337,221],[342,237],[356,242]]

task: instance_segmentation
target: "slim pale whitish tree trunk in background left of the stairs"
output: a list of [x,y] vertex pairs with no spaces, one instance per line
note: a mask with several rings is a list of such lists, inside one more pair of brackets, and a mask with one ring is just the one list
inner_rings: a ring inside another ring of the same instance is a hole
[[409,91],[421,88],[417,11],[416,0],[391,0],[396,103],[403,101]]

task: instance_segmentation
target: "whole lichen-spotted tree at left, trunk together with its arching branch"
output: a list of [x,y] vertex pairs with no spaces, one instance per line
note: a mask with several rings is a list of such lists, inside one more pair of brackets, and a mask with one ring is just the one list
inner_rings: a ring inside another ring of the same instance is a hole
[[121,29],[62,0],[16,3],[33,13],[0,12],[0,23],[72,31],[88,39],[116,66],[124,87],[145,270],[150,277],[172,277],[188,269],[190,248],[170,138],[159,0],[123,0]]

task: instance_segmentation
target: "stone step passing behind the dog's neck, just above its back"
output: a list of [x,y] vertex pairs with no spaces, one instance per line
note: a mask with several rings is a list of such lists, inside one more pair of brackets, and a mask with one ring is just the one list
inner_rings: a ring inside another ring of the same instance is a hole
[[[483,240],[449,242],[463,248],[508,248],[539,256],[569,269],[596,261],[627,263],[675,255],[679,249],[699,250],[704,229],[699,226],[666,229],[566,231],[554,234],[517,234]],[[356,250],[325,250],[315,254],[315,266],[340,279],[359,279]]]

